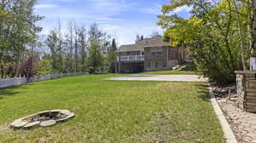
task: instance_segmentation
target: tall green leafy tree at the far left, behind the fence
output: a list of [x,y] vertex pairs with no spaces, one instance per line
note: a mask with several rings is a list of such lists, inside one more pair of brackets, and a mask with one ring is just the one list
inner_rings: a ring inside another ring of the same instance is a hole
[[0,3],[0,74],[5,74],[7,63],[15,65],[15,76],[20,74],[22,58],[28,47],[35,43],[43,17],[35,15],[37,0],[12,0]]

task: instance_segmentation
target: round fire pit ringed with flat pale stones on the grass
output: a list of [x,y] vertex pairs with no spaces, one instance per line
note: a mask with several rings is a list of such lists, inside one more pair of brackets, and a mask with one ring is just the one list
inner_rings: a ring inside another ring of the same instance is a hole
[[51,110],[45,112],[38,112],[27,117],[22,117],[11,123],[10,126],[15,129],[27,129],[32,127],[48,127],[55,123],[67,121],[74,117],[75,114],[68,110]]

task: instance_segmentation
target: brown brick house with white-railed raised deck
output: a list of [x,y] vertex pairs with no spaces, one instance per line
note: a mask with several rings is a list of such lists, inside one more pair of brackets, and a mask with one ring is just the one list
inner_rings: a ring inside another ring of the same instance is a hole
[[122,45],[118,49],[118,55],[120,73],[171,70],[185,57],[182,48],[171,47],[161,36]]

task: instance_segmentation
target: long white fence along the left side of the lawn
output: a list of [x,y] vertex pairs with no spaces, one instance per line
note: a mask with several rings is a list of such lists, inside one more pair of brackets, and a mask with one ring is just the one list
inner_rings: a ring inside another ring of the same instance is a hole
[[14,78],[0,78],[0,89],[1,88],[7,88],[10,86],[20,85],[23,83],[32,83],[32,82],[38,82],[42,80],[48,80],[48,79],[55,79],[60,77],[72,77],[72,76],[79,76],[88,74],[87,72],[79,72],[79,73],[54,73],[50,75],[45,76],[36,76],[36,77],[14,77]]

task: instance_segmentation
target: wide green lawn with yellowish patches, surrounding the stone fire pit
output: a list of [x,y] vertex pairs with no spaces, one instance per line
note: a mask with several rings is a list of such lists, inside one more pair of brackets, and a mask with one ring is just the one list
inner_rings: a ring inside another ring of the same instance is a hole
[[[0,142],[223,142],[206,83],[105,81],[64,77],[0,90]],[[76,117],[49,128],[9,129],[15,118],[48,109]]]

